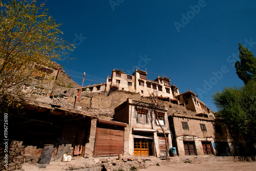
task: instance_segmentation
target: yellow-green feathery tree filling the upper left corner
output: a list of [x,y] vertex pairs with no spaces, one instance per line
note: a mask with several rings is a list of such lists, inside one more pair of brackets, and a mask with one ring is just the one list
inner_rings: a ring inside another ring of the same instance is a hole
[[29,83],[35,66],[52,65],[52,59],[74,46],[62,39],[60,24],[42,9],[44,4],[12,0],[0,5],[0,100],[10,105],[13,88]]

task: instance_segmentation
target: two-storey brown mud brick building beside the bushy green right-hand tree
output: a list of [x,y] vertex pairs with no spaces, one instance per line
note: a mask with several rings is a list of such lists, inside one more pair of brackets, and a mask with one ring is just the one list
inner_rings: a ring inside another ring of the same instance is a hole
[[233,154],[232,138],[223,122],[181,114],[170,115],[168,120],[178,156]]

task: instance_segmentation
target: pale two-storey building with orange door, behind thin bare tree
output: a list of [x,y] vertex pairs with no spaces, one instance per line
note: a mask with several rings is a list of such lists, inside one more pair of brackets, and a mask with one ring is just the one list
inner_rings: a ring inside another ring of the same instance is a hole
[[[135,101],[130,98],[115,109],[116,121],[128,124],[124,139],[124,154],[130,156],[166,156],[165,138],[160,124],[168,140],[171,139],[169,123],[165,107],[157,111],[159,122],[149,103]],[[168,142],[168,147],[172,146]],[[168,155],[168,154],[167,154]]]

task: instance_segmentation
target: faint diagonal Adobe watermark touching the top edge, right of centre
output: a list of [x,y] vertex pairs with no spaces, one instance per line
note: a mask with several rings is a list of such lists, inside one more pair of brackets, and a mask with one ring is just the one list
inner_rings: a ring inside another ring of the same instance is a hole
[[[209,0],[210,1],[210,0]],[[204,8],[207,4],[205,3],[204,0],[199,0],[198,1],[198,5],[194,5],[194,6],[189,6],[189,8],[191,9],[190,11],[188,11],[185,14],[181,14],[181,23],[179,22],[174,22],[174,26],[177,29],[178,33],[180,32],[180,28],[184,28],[185,25],[187,25],[191,19],[193,19],[196,14],[198,14],[201,11],[201,8]]]

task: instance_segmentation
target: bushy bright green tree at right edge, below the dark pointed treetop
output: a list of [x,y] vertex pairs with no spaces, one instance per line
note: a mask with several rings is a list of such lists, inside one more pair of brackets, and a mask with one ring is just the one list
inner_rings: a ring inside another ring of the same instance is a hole
[[224,88],[212,99],[225,119],[237,144],[246,143],[250,153],[256,153],[256,81],[249,80],[244,87]]

